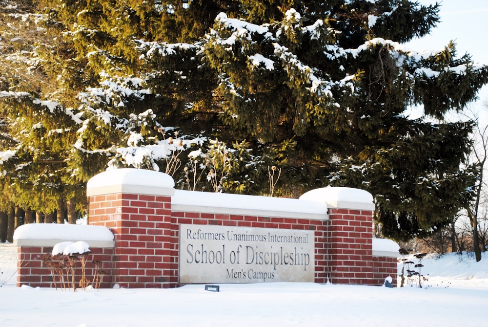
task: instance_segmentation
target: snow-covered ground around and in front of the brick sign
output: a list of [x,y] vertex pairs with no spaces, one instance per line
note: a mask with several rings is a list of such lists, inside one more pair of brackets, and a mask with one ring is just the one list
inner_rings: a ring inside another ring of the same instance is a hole
[[0,326],[488,326],[488,255],[425,259],[426,287],[313,283],[56,291],[16,287],[16,247],[0,244]]

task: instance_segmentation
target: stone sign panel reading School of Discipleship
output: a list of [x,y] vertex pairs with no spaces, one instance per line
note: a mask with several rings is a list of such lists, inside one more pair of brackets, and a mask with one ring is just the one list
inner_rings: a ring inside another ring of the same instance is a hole
[[314,231],[180,225],[180,283],[314,282]]

